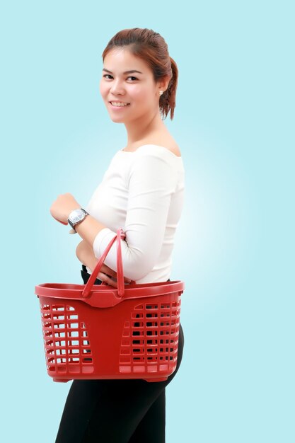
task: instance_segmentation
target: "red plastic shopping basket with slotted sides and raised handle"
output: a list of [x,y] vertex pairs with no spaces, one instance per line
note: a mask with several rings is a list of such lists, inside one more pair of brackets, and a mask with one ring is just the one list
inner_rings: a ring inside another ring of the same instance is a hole
[[[94,284],[117,238],[117,288]],[[47,372],[54,381],[144,379],[175,371],[182,281],[124,283],[122,229],[86,284],[35,286],[40,300]]]

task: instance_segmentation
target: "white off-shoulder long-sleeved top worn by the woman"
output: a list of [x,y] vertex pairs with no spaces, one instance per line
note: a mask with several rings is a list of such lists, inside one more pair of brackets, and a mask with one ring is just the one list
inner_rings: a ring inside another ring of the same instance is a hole
[[[85,207],[108,226],[93,241],[96,258],[122,228],[126,234],[121,240],[125,277],[137,283],[168,280],[184,190],[183,158],[166,147],[144,144],[135,151],[117,151]],[[117,271],[116,242],[104,263]]]

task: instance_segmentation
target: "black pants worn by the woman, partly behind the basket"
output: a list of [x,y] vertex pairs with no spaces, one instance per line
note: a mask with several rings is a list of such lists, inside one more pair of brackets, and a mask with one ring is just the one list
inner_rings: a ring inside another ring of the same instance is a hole
[[[81,275],[86,283],[84,265]],[[74,380],[55,443],[165,443],[165,389],[178,372],[183,345],[180,325],[177,367],[166,381]]]

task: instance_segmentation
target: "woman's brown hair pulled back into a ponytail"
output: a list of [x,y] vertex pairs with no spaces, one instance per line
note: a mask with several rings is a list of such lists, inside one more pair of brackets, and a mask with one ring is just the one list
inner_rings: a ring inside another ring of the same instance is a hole
[[173,120],[175,108],[175,95],[178,84],[178,67],[168,53],[168,45],[163,37],[147,28],[131,28],[120,30],[108,42],[103,51],[103,61],[108,52],[115,47],[125,47],[132,54],[146,62],[154,74],[154,80],[170,76],[168,88],[160,96],[159,108],[162,119],[166,118],[170,111],[170,119]]

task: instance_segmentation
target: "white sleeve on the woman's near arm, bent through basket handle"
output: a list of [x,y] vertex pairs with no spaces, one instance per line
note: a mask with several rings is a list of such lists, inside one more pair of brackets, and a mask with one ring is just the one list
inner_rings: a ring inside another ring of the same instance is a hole
[[[144,149],[140,155],[130,155],[133,156],[132,162],[125,175],[125,225],[117,227],[122,227],[126,234],[125,240],[121,240],[124,275],[138,281],[151,272],[161,254],[166,229],[169,227],[168,214],[170,211],[175,212],[175,205],[171,207],[170,204],[178,186],[180,168],[179,158],[161,149]],[[180,200],[175,201],[179,213],[173,220],[176,224],[182,207]],[[116,231],[109,228],[98,233],[93,242],[96,258],[101,257],[116,234]],[[170,239],[168,243],[171,243]],[[116,242],[104,263],[117,271]]]

